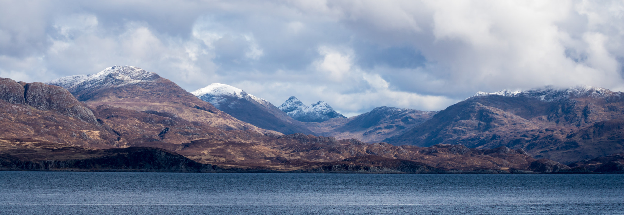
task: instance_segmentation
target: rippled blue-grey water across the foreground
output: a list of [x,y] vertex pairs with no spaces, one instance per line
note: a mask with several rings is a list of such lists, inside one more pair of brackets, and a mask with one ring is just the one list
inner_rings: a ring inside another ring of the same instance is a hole
[[0,214],[624,214],[624,174],[0,171]]

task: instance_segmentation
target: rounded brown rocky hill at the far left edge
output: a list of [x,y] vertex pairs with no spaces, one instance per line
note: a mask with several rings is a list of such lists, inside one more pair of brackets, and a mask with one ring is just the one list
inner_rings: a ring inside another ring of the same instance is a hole
[[0,137],[114,147],[117,138],[64,88],[0,80]]

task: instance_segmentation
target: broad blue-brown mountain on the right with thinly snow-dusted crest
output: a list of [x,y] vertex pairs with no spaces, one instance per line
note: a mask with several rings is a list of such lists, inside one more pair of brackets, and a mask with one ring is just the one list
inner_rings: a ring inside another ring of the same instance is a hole
[[624,150],[624,93],[586,86],[479,92],[386,141],[508,146],[566,163],[610,155]]

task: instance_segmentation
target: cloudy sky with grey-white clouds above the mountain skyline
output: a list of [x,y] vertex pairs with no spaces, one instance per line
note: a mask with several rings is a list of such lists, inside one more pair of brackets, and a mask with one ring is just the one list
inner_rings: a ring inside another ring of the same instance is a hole
[[0,77],[113,65],[348,117],[505,88],[624,91],[624,1],[0,0]]

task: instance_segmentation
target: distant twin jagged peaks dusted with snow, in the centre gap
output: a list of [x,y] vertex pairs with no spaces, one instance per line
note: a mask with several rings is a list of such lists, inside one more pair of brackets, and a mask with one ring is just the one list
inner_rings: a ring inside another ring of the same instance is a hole
[[286,112],[288,116],[301,122],[324,122],[330,118],[346,118],[334,111],[326,102],[318,101],[308,107],[296,97],[288,98],[278,108]]

